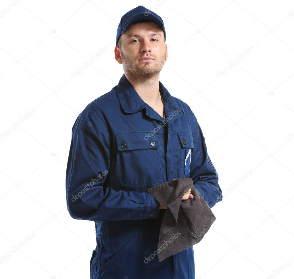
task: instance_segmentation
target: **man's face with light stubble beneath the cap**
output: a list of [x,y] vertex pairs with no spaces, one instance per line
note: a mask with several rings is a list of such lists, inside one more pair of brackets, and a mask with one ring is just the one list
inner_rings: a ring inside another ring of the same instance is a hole
[[156,77],[168,58],[164,33],[154,22],[134,23],[121,35],[121,48],[116,48],[115,55],[133,79]]

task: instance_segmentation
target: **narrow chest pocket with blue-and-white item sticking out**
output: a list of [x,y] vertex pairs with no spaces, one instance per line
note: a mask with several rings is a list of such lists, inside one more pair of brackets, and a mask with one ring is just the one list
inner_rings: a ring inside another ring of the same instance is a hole
[[[192,132],[177,132],[180,141],[179,152],[181,154],[181,177],[190,177],[190,163],[194,141]],[[196,138],[196,137],[195,137]]]

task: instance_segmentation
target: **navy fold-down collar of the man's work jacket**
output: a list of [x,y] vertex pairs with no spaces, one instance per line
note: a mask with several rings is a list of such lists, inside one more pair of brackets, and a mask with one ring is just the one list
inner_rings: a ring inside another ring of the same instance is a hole
[[[169,103],[171,108],[177,110],[181,109],[183,112],[183,108],[176,103],[171,94],[166,90],[163,84],[159,81],[159,91],[163,97],[163,99]],[[133,85],[128,81],[126,75],[123,74],[121,79],[119,80],[118,85],[116,86],[116,93],[121,103],[121,107],[126,113],[134,113],[139,110],[142,110],[145,107],[150,107],[146,102],[144,102],[139,94],[134,89]]]

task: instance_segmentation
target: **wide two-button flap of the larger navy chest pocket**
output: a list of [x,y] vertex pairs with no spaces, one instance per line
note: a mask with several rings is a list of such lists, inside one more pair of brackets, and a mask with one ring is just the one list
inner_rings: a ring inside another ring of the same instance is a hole
[[156,134],[148,137],[149,132],[125,132],[116,133],[116,143],[118,150],[134,150],[157,148],[160,146]]

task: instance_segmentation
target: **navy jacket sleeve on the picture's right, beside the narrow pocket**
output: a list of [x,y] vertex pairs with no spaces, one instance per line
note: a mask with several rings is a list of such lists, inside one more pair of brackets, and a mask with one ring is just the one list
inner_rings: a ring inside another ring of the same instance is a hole
[[222,190],[218,185],[218,173],[208,156],[203,133],[194,113],[193,117],[196,125],[196,145],[194,143],[191,155],[190,178],[194,187],[212,208],[223,199]]

